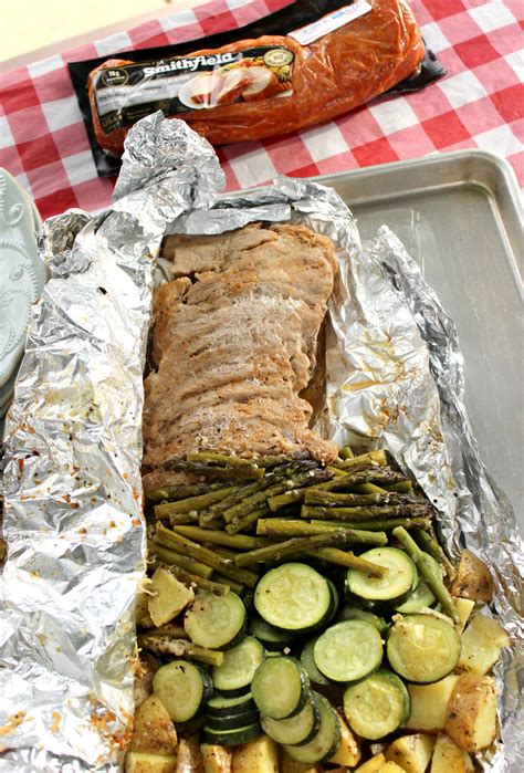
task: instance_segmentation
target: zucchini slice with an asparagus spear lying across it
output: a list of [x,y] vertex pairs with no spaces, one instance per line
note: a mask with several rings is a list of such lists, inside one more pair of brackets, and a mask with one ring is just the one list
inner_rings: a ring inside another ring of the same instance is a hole
[[388,570],[385,577],[371,577],[357,570],[347,571],[349,591],[369,602],[404,600],[418,585],[418,572],[409,555],[397,547],[374,547],[363,553],[361,558]]

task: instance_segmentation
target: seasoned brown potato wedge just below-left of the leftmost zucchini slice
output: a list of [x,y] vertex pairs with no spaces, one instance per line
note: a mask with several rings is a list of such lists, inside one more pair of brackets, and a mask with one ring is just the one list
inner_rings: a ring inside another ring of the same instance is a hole
[[157,696],[149,696],[136,710],[129,749],[149,754],[175,754],[177,731]]

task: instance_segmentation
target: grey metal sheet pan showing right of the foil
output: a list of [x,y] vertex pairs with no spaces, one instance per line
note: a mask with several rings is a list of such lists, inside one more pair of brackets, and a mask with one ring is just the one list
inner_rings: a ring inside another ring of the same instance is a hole
[[522,209],[510,165],[459,150],[316,179],[350,207],[363,240],[382,223],[397,233],[455,322],[473,431],[524,532]]

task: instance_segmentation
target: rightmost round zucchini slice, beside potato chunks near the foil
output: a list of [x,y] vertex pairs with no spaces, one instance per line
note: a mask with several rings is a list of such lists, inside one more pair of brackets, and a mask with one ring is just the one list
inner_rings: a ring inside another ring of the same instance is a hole
[[407,681],[439,681],[459,662],[460,636],[434,615],[406,615],[389,630],[387,654],[394,671]]

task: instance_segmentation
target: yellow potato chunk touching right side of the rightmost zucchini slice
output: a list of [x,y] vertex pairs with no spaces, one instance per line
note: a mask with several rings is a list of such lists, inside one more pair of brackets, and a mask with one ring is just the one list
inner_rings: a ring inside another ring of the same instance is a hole
[[504,628],[485,615],[473,617],[461,641],[459,668],[480,676],[488,673],[499,660],[502,649],[510,646]]

